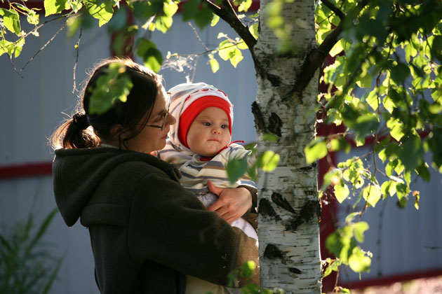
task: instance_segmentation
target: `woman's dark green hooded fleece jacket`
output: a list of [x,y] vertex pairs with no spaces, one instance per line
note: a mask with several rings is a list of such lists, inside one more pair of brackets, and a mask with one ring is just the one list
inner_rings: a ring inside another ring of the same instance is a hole
[[[55,200],[89,229],[101,293],[179,293],[182,274],[225,285],[255,240],[207,211],[167,162],[116,148],[55,151]],[[257,275],[253,281],[257,282]]]

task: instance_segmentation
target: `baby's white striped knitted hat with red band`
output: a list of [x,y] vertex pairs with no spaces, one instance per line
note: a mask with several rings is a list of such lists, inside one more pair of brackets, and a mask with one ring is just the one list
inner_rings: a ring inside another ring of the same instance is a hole
[[167,161],[168,152],[173,153],[173,150],[180,152],[181,155],[194,154],[187,146],[187,132],[196,116],[208,107],[218,107],[227,113],[229,132],[232,134],[233,104],[225,92],[206,83],[182,83],[170,88],[168,92],[172,99],[170,114],[176,118],[177,123],[170,125],[168,144],[166,150],[162,152],[162,159]]

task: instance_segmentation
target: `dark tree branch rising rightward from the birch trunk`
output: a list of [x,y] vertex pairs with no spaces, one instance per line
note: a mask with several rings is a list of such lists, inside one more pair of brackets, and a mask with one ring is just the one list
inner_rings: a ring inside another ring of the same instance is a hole
[[[323,1],[324,4],[328,2],[327,0],[321,1]],[[356,6],[356,9],[358,9],[360,12],[368,4],[368,1],[369,0],[360,1]],[[356,13],[356,15],[358,15],[359,12]],[[316,70],[321,68],[324,60],[328,56],[328,52],[330,52],[335,43],[340,40],[340,38],[338,37],[342,31],[342,22],[344,21],[344,18],[345,16],[341,18],[340,24],[335,29],[333,29],[330,34],[328,34],[328,36],[324,39],[324,41],[321,43],[321,45],[319,45],[318,48],[310,50],[306,59],[304,60],[304,64],[302,64],[301,71],[297,75],[295,87],[293,87],[293,90],[290,91],[288,97],[293,97],[294,94],[297,94],[302,102],[302,91],[304,91],[310,80],[312,80]]]

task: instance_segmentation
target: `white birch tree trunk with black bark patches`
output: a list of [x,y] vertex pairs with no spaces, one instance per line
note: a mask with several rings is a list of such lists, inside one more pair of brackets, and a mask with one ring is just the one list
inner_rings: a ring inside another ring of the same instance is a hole
[[[257,97],[253,114],[258,149],[281,157],[279,166],[258,181],[258,235],[262,286],[286,293],[321,293],[319,216],[316,165],[307,165],[304,147],[314,138],[318,71],[301,93],[296,91],[302,64],[316,46],[314,1],[286,3],[281,15],[292,26],[293,53],[279,55],[278,39],[267,26],[261,1],[260,34],[254,47]],[[273,143],[262,140],[276,134]]]

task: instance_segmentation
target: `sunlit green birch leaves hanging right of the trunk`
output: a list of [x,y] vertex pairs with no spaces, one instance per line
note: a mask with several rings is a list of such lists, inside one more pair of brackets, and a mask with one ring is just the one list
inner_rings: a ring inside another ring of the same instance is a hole
[[[348,151],[346,141],[362,146],[370,139],[366,158],[340,162],[326,174],[321,190],[332,185],[338,202],[357,195],[354,209],[364,200],[363,211],[394,195],[399,207],[411,195],[418,209],[420,194],[411,190],[411,179],[429,181],[430,166],[442,172],[442,3],[325,2],[316,5],[317,40],[323,42],[335,27],[342,31],[330,50],[334,61],[321,78],[328,92],[319,95],[319,112],[325,123],[344,124],[347,130],[313,141],[305,148],[307,161]],[[432,153],[429,162],[425,153]],[[387,179],[379,182],[379,175]],[[328,237],[326,245],[337,258],[326,260],[325,275],[341,263],[355,272],[368,269],[370,254],[356,246],[362,239],[353,235],[356,225],[365,230],[362,224],[347,224]]]

